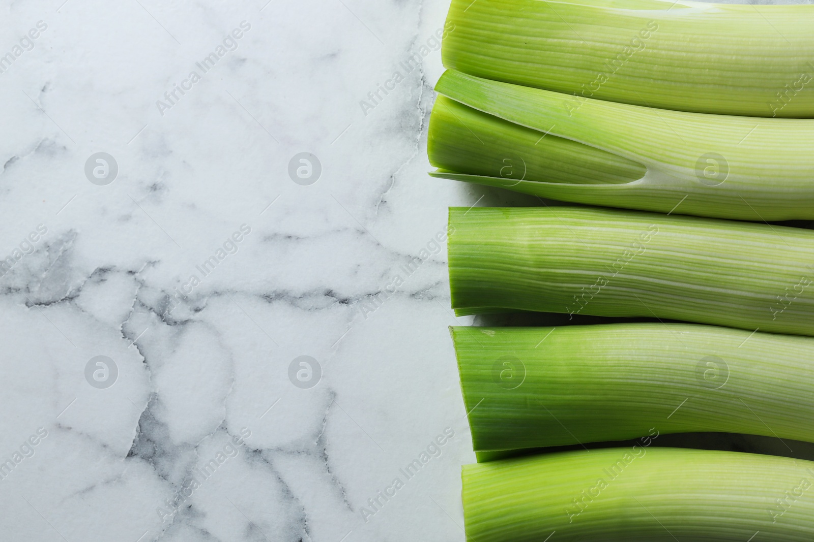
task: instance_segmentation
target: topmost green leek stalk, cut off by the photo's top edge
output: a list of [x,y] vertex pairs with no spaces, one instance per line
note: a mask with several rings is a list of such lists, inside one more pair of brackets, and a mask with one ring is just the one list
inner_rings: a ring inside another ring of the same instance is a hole
[[574,104],[810,118],[812,23],[810,5],[453,0],[442,60]]

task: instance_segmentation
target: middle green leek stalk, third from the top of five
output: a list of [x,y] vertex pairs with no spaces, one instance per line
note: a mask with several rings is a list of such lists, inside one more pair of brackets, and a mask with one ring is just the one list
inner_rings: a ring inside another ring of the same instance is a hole
[[814,232],[573,207],[451,207],[458,315],[536,310],[814,335]]

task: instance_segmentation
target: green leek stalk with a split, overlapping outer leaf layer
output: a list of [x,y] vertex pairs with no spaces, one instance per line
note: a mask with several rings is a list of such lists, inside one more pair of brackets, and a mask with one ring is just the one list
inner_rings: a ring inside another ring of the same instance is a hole
[[573,108],[561,93],[453,70],[436,90],[442,96],[427,153],[439,169],[432,176],[590,205],[814,219],[814,119],[702,115],[588,98]]

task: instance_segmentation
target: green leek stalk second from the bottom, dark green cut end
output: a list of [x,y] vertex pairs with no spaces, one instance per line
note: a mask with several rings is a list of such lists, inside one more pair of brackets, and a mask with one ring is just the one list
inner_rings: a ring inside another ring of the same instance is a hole
[[809,337],[678,323],[451,332],[476,452],[654,431],[814,442]]

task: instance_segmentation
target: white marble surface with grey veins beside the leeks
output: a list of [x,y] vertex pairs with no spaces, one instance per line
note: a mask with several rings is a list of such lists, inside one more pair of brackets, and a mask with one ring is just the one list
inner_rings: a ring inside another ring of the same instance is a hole
[[[447,206],[523,197],[426,175],[438,50],[359,104],[433,45],[447,2],[62,2],[0,18],[0,55],[47,27],[0,73],[0,540],[463,540],[474,454],[446,327],[468,320],[445,248],[401,267]],[[236,49],[196,66],[243,21]],[[97,152],[111,184],[85,177]],[[300,152],[322,163],[315,184],[288,175]],[[302,355],[322,367],[313,388],[289,379]],[[85,378],[96,356],[110,387]],[[400,475],[447,427],[440,456]]]

